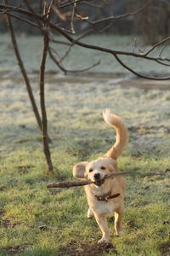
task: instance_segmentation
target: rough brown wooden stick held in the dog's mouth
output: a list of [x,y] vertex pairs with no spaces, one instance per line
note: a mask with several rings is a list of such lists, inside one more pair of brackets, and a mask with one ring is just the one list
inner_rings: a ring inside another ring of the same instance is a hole
[[[119,177],[122,175],[127,174],[127,172],[116,172],[116,173],[111,173],[111,174],[106,174],[103,179],[100,179],[100,182],[104,182],[105,179],[107,178],[113,178],[113,177]],[[84,180],[84,181],[79,181],[79,182],[66,182],[66,183],[49,183],[47,185],[47,188],[71,188],[71,187],[79,187],[79,186],[86,186],[92,183],[98,183],[97,182],[92,182],[91,180]]]

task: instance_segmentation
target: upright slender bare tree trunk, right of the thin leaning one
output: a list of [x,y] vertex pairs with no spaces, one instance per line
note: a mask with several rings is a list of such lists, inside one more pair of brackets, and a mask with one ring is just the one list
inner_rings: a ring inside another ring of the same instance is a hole
[[44,28],[43,35],[43,50],[42,50],[42,61],[39,72],[39,86],[40,86],[40,104],[42,110],[42,143],[43,143],[43,152],[46,157],[48,164],[48,171],[53,171],[53,164],[51,160],[51,154],[48,147],[48,119],[45,107],[45,93],[44,93],[44,73],[45,73],[45,64],[48,54],[48,31],[46,27]]

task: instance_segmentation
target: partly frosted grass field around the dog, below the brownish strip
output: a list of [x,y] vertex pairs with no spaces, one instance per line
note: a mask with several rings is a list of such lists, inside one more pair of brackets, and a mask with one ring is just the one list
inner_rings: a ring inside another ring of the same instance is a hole
[[[50,174],[25,85],[13,72],[1,69],[0,255],[170,255],[170,91],[161,84],[148,90],[147,81],[141,89],[142,80],[131,86],[114,75],[48,73]],[[37,73],[30,73],[30,79],[38,101]],[[115,236],[111,216],[111,247],[97,245],[100,230],[86,218],[82,188],[46,188],[52,181],[73,180],[74,164],[111,147],[115,131],[102,119],[104,108],[120,115],[130,133],[118,162],[129,172],[125,235]]]

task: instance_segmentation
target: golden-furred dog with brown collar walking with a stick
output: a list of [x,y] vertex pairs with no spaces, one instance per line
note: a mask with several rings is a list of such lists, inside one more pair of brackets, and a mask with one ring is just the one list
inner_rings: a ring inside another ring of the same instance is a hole
[[110,241],[110,230],[106,218],[109,213],[115,212],[116,235],[123,233],[125,178],[120,176],[105,179],[105,181],[102,181],[102,178],[105,177],[105,174],[120,172],[116,160],[122,154],[128,138],[127,127],[120,117],[111,114],[108,109],[103,112],[103,117],[107,124],[116,129],[116,142],[104,156],[91,162],[80,162],[73,167],[74,177],[94,182],[84,188],[89,206],[88,218],[94,217],[96,219],[103,235],[98,243]]

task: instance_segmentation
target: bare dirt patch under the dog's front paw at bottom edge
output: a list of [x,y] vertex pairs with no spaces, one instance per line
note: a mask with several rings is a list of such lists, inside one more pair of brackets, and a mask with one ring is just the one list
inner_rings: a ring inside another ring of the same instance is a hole
[[68,256],[99,256],[104,253],[115,253],[116,247],[114,247],[111,243],[109,244],[75,244],[71,243],[67,247],[63,247],[58,255],[68,255]]

